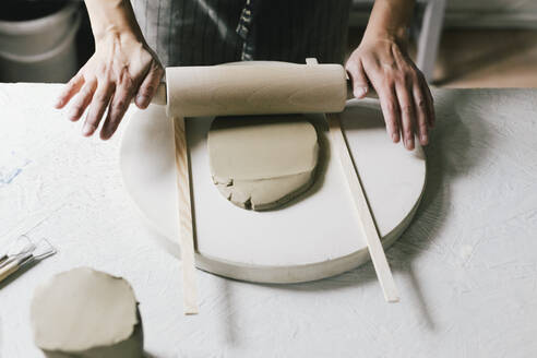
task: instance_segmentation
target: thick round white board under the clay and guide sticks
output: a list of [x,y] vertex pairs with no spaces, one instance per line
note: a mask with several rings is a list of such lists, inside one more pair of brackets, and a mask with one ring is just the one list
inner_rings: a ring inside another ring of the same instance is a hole
[[[421,147],[413,152],[387,139],[378,100],[349,100],[342,116],[347,142],[384,248],[404,231],[426,182]],[[314,281],[351,270],[369,253],[324,117],[317,124],[324,153],[313,187],[282,208],[235,206],[211,178],[207,131],[213,118],[187,119],[191,162],[196,266],[258,283]],[[123,182],[143,217],[179,251],[174,129],[165,107],[131,111],[120,165]]]

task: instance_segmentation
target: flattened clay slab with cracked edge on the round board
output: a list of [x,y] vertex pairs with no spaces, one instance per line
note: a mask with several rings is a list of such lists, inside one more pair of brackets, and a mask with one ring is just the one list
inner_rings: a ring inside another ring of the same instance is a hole
[[314,180],[318,134],[302,115],[217,117],[207,143],[213,182],[240,207],[275,208]]

